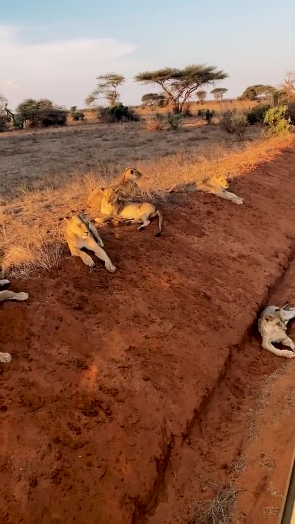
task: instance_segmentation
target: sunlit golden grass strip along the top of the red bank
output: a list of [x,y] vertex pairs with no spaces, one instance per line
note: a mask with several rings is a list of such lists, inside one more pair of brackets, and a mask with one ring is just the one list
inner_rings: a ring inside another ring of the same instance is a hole
[[[221,147],[206,151],[206,156],[188,159],[179,154],[137,162],[137,169],[145,174],[141,189],[149,198],[165,199],[179,182],[214,179],[218,184],[219,177],[242,176],[261,163],[275,159],[292,143],[293,136],[287,135],[258,140],[234,152]],[[110,179],[93,170],[84,176],[73,173],[71,181],[59,187],[19,192],[0,214],[0,256],[5,272],[21,277],[34,269],[49,271],[57,267],[63,253],[67,253],[63,240],[64,217],[86,211],[90,192],[108,182]]]

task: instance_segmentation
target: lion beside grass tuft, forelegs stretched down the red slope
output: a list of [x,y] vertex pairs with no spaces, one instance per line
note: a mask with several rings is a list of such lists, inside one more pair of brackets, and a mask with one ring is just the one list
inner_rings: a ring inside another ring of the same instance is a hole
[[68,243],[71,255],[80,257],[86,266],[94,266],[92,258],[81,251],[85,247],[93,251],[97,258],[104,261],[105,268],[108,271],[114,273],[116,268],[105,253],[103,241],[94,225],[85,216],[81,215],[74,215],[71,219],[65,220],[67,221],[67,226],[65,227],[64,237]]

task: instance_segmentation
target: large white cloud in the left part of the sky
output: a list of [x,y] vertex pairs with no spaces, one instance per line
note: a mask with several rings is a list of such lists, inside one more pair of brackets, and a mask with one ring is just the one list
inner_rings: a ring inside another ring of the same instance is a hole
[[130,68],[135,46],[115,38],[28,43],[18,28],[0,25],[0,49],[0,91],[10,107],[26,97],[81,106],[97,75]]

